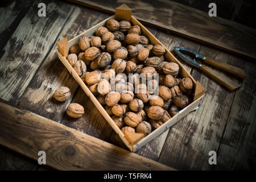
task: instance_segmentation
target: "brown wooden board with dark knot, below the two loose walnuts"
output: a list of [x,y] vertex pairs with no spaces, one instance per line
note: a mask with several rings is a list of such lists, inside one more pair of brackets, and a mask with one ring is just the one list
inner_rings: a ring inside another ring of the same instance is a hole
[[0,102],[0,143],[60,170],[173,170],[40,115]]

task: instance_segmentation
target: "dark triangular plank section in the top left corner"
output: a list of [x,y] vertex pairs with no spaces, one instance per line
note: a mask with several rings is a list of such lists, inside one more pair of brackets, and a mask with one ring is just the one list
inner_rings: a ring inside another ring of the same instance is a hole
[[0,57],[3,55],[3,47],[10,39],[19,22],[27,14],[27,10],[32,5],[32,1],[6,1],[1,2],[0,7]]

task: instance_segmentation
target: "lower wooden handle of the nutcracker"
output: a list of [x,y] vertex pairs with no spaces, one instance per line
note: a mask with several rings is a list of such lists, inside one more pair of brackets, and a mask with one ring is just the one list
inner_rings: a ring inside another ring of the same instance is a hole
[[224,85],[226,88],[228,88],[231,91],[233,91],[237,88],[240,88],[240,86],[241,86],[237,82],[234,82],[234,81],[230,80],[229,78],[227,78],[223,75],[220,75],[220,73],[217,73],[216,71],[213,71],[212,69],[210,69],[206,65],[201,65],[200,70],[203,71],[204,73],[207,73],[207,75],[209,75],[214,80],[216,80],[220,84]]

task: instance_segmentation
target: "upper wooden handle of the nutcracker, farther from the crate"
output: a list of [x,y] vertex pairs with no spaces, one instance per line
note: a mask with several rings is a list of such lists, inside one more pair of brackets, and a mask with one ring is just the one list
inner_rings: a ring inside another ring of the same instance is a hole
[[238,76],[240,78],[245,79],[245,71],[241,68],[234,67],[233,65],[223,63],[218,60],[211,59],[209,57],[205,57],[205,63],[208,63],[210,65],[213,65],[213,67],[220,68],[228,73],[231,73],[232,75]]

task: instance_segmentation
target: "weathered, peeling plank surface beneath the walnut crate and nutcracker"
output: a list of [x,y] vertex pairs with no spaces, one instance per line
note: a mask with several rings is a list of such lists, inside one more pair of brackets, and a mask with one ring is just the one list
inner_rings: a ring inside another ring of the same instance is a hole
[[[85,114],[76,122],[67,117],[65,109],[71,102],[78,102],[85,110],[94,106],[56,54],[58,40],[65,36],[71,39],[81,34],[108,18],[109,14],[63,1],[43,1],[47,5],[47,16],[39,18],[37,6],[40,2],[8,1],[1,7],[2,102],[124,147],[105,119],[97,114],[97,110],[95,117],[89,118]],[[203,103],[199,109],[136,153],[176,169],[255,169],[255,63],[181,36],[147,28],[170,50],[174,46],[184,46],[199,51],[205,56],[245,69],[247,77],[240,80],[227,75],[242,85],[236,92],[229,92],[198,69],[184,64],[195,80],[205,87]],[[59,86],[71,88],[72,97],[67,102],[59,103],[52,99]],[[212,150],[217,152],[217,165],[214,166],[208,164],[208,152]],[[34,160],[0,147],[0,169],[50,168],[39,166]]]

